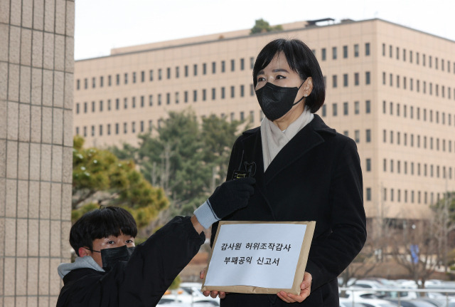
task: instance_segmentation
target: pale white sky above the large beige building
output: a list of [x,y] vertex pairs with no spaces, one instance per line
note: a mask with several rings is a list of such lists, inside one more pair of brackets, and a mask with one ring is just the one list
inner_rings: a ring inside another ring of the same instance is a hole
[[[384,19],[455,41],[455,0],[77,0],[75,60],[111,48],[332,18]],[[455,51],[454,51],[455,52]]]

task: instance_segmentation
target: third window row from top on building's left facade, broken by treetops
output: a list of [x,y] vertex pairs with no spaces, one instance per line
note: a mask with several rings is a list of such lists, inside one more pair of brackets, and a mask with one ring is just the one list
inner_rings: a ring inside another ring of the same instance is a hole
[[[221,118],[227,118],[228,115],[225,113],[221,113]],[[204,118],[204,116],[203,116]],[[229,114],[229,118],[231,121],[237,120],[235,118],[235,113],[232,112]],[[259,111],[259,119],[262,120],[264,118],[264,114],[262,111]],[[248,118],[247,114],[245,112],[241,111],[239,113],[239,118],[238,120],[243,121],[243,120],[249,120],[250,123],[253,123],[255,120],[255,112],[250,111]],[[163,123],[163,120],[157,120],[157,125],[156,128],[161,128],[161,125]],[[76,127],[76,135],[82,135],[84,137],[87,137],[89,131],[87,129],[90,129],[90,136],[95,137],[95,136],[103,136],[103,135],[119,135],[120,133],[123,134],[128,134],[128,133],[144,133],[144,132],[151,132],[153,130],[154,125],[153,125],[153,120],[149,120],[148,123],[144,120],[140,120],[139,122],[133,121],[131,123],[114,123],[114,124],[106,124],[106,125],[91,125],[90,127],[83,126],[82,130],[80,130],[80,127]]]

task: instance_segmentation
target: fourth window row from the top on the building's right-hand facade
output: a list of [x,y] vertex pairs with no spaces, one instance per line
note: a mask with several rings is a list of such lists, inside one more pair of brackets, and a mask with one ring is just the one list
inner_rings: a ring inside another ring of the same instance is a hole
[[[407,133],[401,133],[401,132],[393,132],[390,130],[390,132],[387,132],[387,130],[382,130],[382,142],[387,142],[387,135],[389,135],[389,142],[390,144],[393,144],[394,142],[397,145],[405,145],[407,146],[408,142],[408,135]],[[395,138],[394,138],[395,135]],[[414,134],[409,135],[409,142],[410,142],[410,147],[414,147]],[[401,140],[402,139],[402,140]],[[448,152],[452,152],[452,141],[451,140],[445,140],[442,139],[440,140],[439,137],[427,137],[424,135],[421,137],[420,135],[415,135],[415,140],[416,140],[416,147],[420,148],[421,145],[424,149],[429,148],[429,150],[434,150],[436,149],[437,151],[442,150],[445,152],[446,150]],[[422,144],[421,144],[422,140]],[[447,147],[446,147],[447,145]],[[455,152],[455,141],[454,141],[454,152]]]

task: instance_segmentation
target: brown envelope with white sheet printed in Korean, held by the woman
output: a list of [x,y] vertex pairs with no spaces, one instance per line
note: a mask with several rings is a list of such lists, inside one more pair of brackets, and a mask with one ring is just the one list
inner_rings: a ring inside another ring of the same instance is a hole
[[203,291],[299,294],[316,222],[220,222]]

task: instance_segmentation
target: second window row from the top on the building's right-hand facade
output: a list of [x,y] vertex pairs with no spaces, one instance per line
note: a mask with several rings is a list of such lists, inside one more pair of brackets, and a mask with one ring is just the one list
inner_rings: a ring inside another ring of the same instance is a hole
[[[395,78],[396,77],[396,78]],[[407,78],[406,77],[402,77],[400,78],[399,75],[397,76],[393,76],[393,73],[389,73],[389,85],[390,86],[394,86],[394,80],[395,80],[395,85],[397,86],[397,88],[400,88],[400,86],[402,86],[402,88],[404,90],[407,89]],[[400,80],[402,81],[402,83],[400,83]],[[410,90],[414,90],[414,79],[413,78],[410,78],[409,79],[410,83],[409,83],[409,88]],[[416,79],[415,80],[415,90],[417,91],[417,93],[420,92],[420,80],[419,79]],[[385,73],[385,71],[382,72],[382,84],[383,85],[386,85],[387,84],[387,73]],[[434,85],[434,87],[433,87]],[[434,88],[434,90],[433,90]],[[422,93],[424,94],[428,94],[429,95],[436,95],[437,97],[439,97],[439,88],[441,89],[440,92],[441,92],[441,97],[442,98],[445,98],[447,97],[447,99],[451,99],[451,88],[449,86],[445,86],[445,85],[441,85],[439,86],[439,84],[433,84],[432,82],[429,82],[428,83],[428,90],[427,90],[427,81],[422,81]],[[455,88],[454,88],[454,100],[455,100]]]

